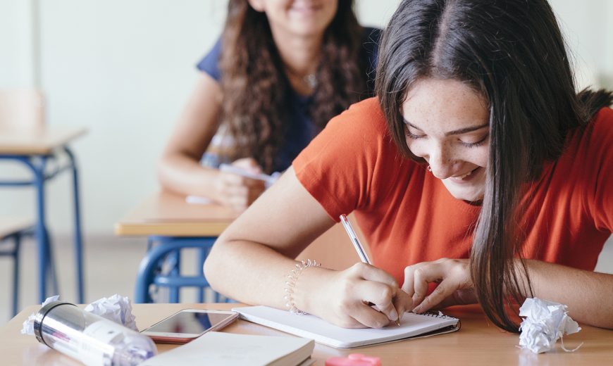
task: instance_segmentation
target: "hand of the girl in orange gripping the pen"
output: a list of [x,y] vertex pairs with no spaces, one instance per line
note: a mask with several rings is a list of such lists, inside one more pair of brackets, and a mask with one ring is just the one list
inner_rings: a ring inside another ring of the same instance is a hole
[[321,286],[314,313],[344,328],[385,327],[412,308],[411,298],[390,274],[366,263],[334,272]]

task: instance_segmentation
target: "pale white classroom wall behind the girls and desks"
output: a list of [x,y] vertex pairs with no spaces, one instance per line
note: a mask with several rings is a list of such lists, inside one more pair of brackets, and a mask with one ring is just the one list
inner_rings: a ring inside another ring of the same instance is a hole
[[[398,0],[357,0],[365,25],[383,26]],[[552,1],[588,81],[613,75],[613,5]],[[73,148],[81,167],[87,234],[113,223],[158,189],[155,162],[190,93],[194,63],[221,31],[225,0],[0,0],[0,87],[35,84],[51,125],[87,126]],[[32,44],[39,11],[40,58]],[[593,70],[593,71],[589,71]],[[586,81],[583,81],[584,83]],[[613,86],[609,84],[609,87]],[[0,165],[0,174],[12,167]],[[50,184],[49,224],[68,233],[68,177]],[[33,213],[32,192],[0,190],[0,214]]]

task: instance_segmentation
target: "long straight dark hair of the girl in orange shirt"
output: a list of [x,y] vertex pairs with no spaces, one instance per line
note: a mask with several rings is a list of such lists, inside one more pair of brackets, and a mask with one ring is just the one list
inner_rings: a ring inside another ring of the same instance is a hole
[[471,86],[489,103],[490,159],[474,231],[471,277],[485,314],[517,332],[507,305],[532,293],[521,257],[517,215],[526,182],[564,150],[570,130],[612,103],[603,90],[580,93],[564,40],[545,0],[404,0],[384,31],[376,94],[400,151],[409,151],[402,102],[434,77]]

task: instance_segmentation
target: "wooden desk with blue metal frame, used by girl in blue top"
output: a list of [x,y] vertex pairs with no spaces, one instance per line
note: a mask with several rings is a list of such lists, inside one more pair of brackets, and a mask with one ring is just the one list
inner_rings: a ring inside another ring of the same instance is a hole
[[[204,298],[204,287],[208,282],[200,270],[197,276],[180,274],[182,248],[199,248],[198,267],[206,259],[217,236],[238,216],[231,208],[218,205],[194,205],[185,202],[185,197],[168,192],[149,196],[137,208],[115,225],[119,236],[148,236],[149,243],[158,245],[149,251],[140,263],[135,285],[135,302],[151,303],[149,286],[166,286],[170,290],[170,302],[179,302],[179,289],[183,286],[198,288],[198,298]],[[166,275],[157,270],[163,258],[172,254],[177,262],[174,270]]]

